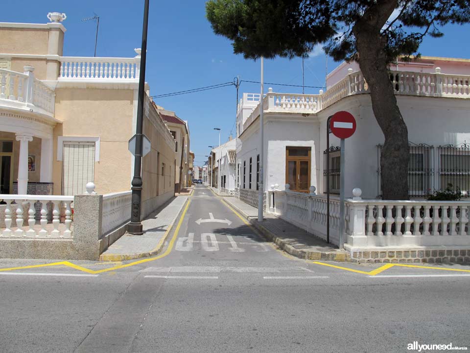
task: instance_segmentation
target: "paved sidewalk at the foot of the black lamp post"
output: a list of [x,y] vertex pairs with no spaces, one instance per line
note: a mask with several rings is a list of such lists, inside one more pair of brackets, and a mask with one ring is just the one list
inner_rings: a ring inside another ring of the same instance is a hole
[[142,221],[142,235],[125,233],[99,256],[100,261],[125,261],[158,254],[187,200],[187,196],[177,196],[165,203]]

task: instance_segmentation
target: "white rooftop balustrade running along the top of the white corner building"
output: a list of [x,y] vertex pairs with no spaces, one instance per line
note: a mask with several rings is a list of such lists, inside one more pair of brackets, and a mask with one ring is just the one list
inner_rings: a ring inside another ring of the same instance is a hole
[[[470,98],[470,76],[442,74],[440,68],[436,68],[435,73],[390,71],[390,81],[397,95]],[[264,97],[263,106],[268,112],[311,114],[344,97],[368,92],[369,87],[362,73],[349,69],[346,77],[326,92],[320,90],[318,95],[274,93],[270,88]],[[244,93],[243,99],[238,103],[239,110],[244,107],[253,109],[244,128],[259,115],[259,97],[259,94]]]

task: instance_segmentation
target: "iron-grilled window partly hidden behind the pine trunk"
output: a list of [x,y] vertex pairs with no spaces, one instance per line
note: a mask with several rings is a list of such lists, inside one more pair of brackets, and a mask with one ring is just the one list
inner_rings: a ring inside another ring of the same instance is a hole
[[[383,145],[377,145],[377,196],[382,196],[380,156]],[[409,143],[408,194],[410,197],[425,197],[433,193],[434,147]]]

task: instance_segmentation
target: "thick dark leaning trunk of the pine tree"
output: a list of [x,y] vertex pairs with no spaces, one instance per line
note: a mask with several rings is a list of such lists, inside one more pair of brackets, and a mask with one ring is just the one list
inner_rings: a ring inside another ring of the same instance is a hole
[[369,86],[372,110],[385,137],[380,158],[382,199],[408,200],[408,129],[388,73],[389,58],[383,50],[385,38],[380,36],[380,29],[395,3],[392,0],[378,1],[352,31],[356,38],[359,67]]

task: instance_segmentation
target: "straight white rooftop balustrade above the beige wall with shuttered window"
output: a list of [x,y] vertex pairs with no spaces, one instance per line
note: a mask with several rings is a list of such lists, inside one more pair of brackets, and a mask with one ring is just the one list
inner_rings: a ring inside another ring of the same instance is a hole
[[140,57],[61,57],[59,79],[139,79]]

